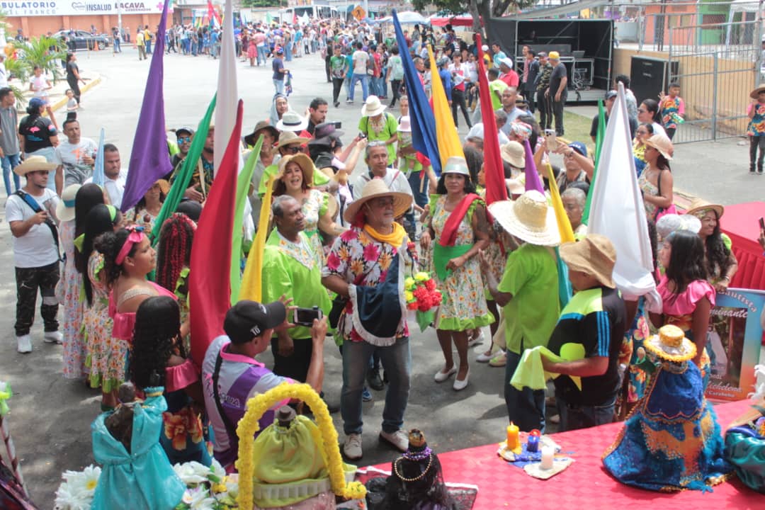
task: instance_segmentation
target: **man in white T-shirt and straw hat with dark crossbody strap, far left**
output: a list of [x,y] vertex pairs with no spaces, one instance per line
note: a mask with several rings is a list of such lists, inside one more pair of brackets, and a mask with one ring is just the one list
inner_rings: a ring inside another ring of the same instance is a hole
[[34,304],[40,289],[40,314],[45,326],[44,340],[61,343],[58,331],[58,300],[56,284],[59,278],[60,254],[54,211],[58,197],[47,188],[48,172],[56,168],[43,156],[28,156],[13,171],[25,177],[27,183],[5,203],[5,219],[11,226],[13,258],[16,268],[16,341],[18,352],[31,352],[29,335],[34,323]]

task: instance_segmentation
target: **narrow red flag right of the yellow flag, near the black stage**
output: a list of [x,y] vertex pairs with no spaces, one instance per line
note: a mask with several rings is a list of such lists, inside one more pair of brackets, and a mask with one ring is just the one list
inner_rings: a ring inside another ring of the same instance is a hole
[[480,112],[483,117],[483,168],[486,174],[486,203],[507,200],[505,170],[500,155],[500,138],[497,136],[494,109],[491,106],[489,80],[483,64],[480,34],[476,34],[478,47],[478,90]]

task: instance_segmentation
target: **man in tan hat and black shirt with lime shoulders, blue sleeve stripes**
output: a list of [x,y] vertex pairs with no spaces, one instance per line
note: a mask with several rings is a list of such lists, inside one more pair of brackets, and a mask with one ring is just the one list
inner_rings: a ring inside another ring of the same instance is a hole
[[[574,357],[566,351],[576,346],[583,357],[552,362],[542,356],[542,365],[546,372],[569,375],[555,378],[555,401],[560,430],[575,430],[614,421],[627,319],[612,278],[617,252],[607,237],[589,234],[579,242],[565,243],[560,253],[577,292],[562,310],[547,346],[564,359]],[[581,388],[571,377],[581,377]]]

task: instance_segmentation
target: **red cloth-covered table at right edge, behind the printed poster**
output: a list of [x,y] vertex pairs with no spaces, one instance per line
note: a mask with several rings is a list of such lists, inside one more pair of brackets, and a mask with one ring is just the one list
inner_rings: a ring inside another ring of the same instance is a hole
[[765,216],[765,202],[739,203],[725,207],[720,229],[733,242],[733,254],[738,259],[738,271],[731,287],[765,290],[765,257],[757,238],[760,217]]

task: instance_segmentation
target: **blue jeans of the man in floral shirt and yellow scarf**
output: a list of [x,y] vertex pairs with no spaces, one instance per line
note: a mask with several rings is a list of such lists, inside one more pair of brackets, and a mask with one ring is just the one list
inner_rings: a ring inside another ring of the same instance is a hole
[[340,414],[345,434],[361,434],[361,391],[364,388],[369,359],[379,353],[382,369],[388,376],[385,408],[382,409],[382,430],[389,434],[404,425],[404,411],[409,401],[409,375],[412,371],[412,352],[409,338],[396,339],[392,346],[378,347],[367,342],[343,343],[343,388],[340,392]]

